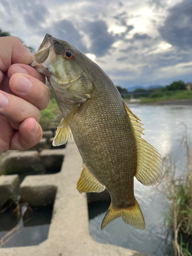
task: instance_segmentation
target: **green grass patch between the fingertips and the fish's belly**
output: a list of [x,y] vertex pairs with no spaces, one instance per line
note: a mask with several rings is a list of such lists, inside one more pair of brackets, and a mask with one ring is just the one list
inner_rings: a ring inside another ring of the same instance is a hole
[[50,103],[47,109],[40,112],[39,124],[42,127],[42,130],[47,130],[51,123],[55,120],[57,114],[60,113],[60,110],[57,106],[56,100],[53,96],[53,92],[50,89]]

